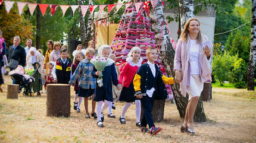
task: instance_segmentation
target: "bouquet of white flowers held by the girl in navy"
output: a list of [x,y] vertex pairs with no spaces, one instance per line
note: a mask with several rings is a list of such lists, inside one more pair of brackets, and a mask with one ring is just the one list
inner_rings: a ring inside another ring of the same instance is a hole
[[[95,68],[97,69],[97,71],[104,71],[104,68],[108,65],[108,63],[110,63],[110,61],[108,60],[108,58],[105,57],[101,57],[101,56],[95,56],[94,58],[92,58],[90,60],[90,62],[93,63],[93,65],[95,66]],[[99,87],[103,86],[103,80],[102,80],[102,73],[101,75],[99,75],[99,78],[97,80],[97,83],[99,85]]]

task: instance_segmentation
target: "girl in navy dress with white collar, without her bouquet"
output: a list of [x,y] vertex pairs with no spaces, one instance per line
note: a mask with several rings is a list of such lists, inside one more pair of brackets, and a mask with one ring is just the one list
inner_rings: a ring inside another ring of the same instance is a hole
[[[97,102],[97,126],[104,127],[104,115],[103,111],[107,109],[107,107],[113,101],[113,94],[112,94],[112,83],[117,86],[118,90],[120,90],[121,85],[118,84],[117,80],[117,73],[115,72],[115,64],[113,59],[110,59],[110,55],[112,53],[111,47],[108,45],[102,45],[98,49],[98,55],[107,58],[109,61],[108,65],[105,66],[104,71],[97,71],[96,68],[93,68],[92,76],[98,78],[98,76],[102,73],[103,77],[103,86],[99,87],[98,83],[96,83],[95,89],[95,97],[94,100]],[[104,105],[102,103],[104,101]]]

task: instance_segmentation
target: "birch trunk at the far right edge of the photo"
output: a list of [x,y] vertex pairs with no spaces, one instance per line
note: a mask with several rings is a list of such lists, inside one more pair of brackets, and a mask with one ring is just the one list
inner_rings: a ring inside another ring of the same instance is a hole
[[254,70],[256,60],[256,0],[252,0],[251,49],[248,62],[247,89],[254,90]]

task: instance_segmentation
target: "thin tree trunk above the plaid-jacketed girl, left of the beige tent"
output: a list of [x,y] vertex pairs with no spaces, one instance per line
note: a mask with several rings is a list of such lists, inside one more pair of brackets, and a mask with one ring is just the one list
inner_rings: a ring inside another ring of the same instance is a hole
[[[77,0],[79,5],[83,5],[82,0]],[[85,27],[85,18],[82,15],[82,10],[81,7],[78,7],[78,11],[79,11],[79,23],[80,23],[80,38],[81,38],[81,42],[83,46],[87,46],[86,45],[86,27]]]

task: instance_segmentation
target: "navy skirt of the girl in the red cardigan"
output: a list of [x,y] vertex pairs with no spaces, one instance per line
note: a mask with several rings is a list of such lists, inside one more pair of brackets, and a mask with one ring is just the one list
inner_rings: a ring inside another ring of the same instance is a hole
[[121,90],[119,101],[134,102],[135,100],[139,100],[139,98],[135,97],[133,82],[131,82],[128,88],[123,87]]

